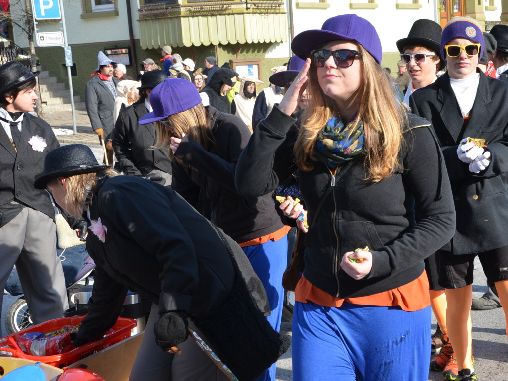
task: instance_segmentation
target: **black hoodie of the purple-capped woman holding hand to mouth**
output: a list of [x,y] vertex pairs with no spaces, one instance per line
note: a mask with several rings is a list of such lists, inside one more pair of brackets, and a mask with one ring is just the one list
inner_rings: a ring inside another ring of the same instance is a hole
[[205,215],[209,208],[212,223],[238,243],[276,232],[283,224],[272,197],[244,197],[235,188],[236,163],[250,138],[247,126],[235,115],[207,110],[215,147],[208,152],[186,135],[175,157],[197,171],[173,160],[172,189]]

